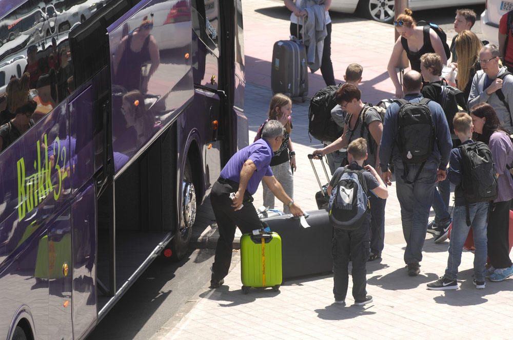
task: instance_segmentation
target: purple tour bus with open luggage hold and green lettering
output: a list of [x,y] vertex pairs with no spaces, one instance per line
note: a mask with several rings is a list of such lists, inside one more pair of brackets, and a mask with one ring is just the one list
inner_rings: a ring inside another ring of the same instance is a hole
[[81,339],[248,144],[241,0],[1,2],[0,339]]

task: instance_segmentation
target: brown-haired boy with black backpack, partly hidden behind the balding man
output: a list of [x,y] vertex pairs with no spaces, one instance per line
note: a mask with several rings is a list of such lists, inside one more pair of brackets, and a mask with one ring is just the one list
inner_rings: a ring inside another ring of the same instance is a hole
[[[436,53],[426,53],[420,57],[420,70],[424,81],[422,95],[439,103],[444,110],[445,118],[451,132],[452,147],[460,145],[458,137],[452,133],[452,119],[457,112],[466,111],[465,94],[459,89],[448,86],[442,74],[442,58]],[[450,183],[446,178],[438,182],[438,190],[435,190],[432,207],[435,210],[435,220],[427,225],[427,231],[435,235],[435,243],[447,239],[451,217],[449,214]]]

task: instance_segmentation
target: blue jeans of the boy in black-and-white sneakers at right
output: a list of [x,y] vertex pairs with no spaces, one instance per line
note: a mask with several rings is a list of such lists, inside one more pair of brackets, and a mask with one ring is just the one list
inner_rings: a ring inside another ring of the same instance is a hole
[[[449,258],[444,277],[448,280],[456,280],[458,266],[461,263],[463,244],[468,236],[467,209],[465,206],[454,208],[454,218],[450,231]],[[487,257],[486,228],[488,225],[488,202],[473,203],[468,206],[472,231],[474,234],[474,279],[484,281],[485,264]]]

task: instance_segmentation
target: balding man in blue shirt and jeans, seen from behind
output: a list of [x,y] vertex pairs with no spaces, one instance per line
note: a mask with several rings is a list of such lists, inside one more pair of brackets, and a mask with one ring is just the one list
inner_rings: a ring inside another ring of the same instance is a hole
[[[419,102],[423,99],[420,94],[422,76],[417,71],[409,71],[403,77],[404,99],[409,102]],[[435,101],[427,103],[431,112],[431,122],[435,130],[435,141],[432,153],[422,164],[405,163],[398,150],[398,116],[401,106],[398,102],[392,103],[385,113],[383,135],[380,143],[380,162],[383,172],[383,181],[391,185],[392,174],[389,170],[389,161],[393,162],[396,170],[397,198],[401,205],[401,221],[403,235],[406,241],[404,262],[408,265],[408,275],[416,276],[420,273],[422,260],[422,247],[426,238],[427,222],[431,202],[437,181],[446,177],[447,163],[452,147],[449,125],[440,104]],[[426,143],[429,141],[426,140]],[[423,165],[423,166],[422,166]],[[406,170],[406,171],[405,171]]]

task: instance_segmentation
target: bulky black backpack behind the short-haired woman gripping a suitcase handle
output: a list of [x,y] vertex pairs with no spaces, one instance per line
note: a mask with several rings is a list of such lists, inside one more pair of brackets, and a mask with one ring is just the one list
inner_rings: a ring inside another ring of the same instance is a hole
[[331,118],[331,110],[337,105],[335,94],[340,86],[330,85],[319,90],[310,100],[308,135],[311,137],[320,141],[332,142],[342,136],[342,127]]

